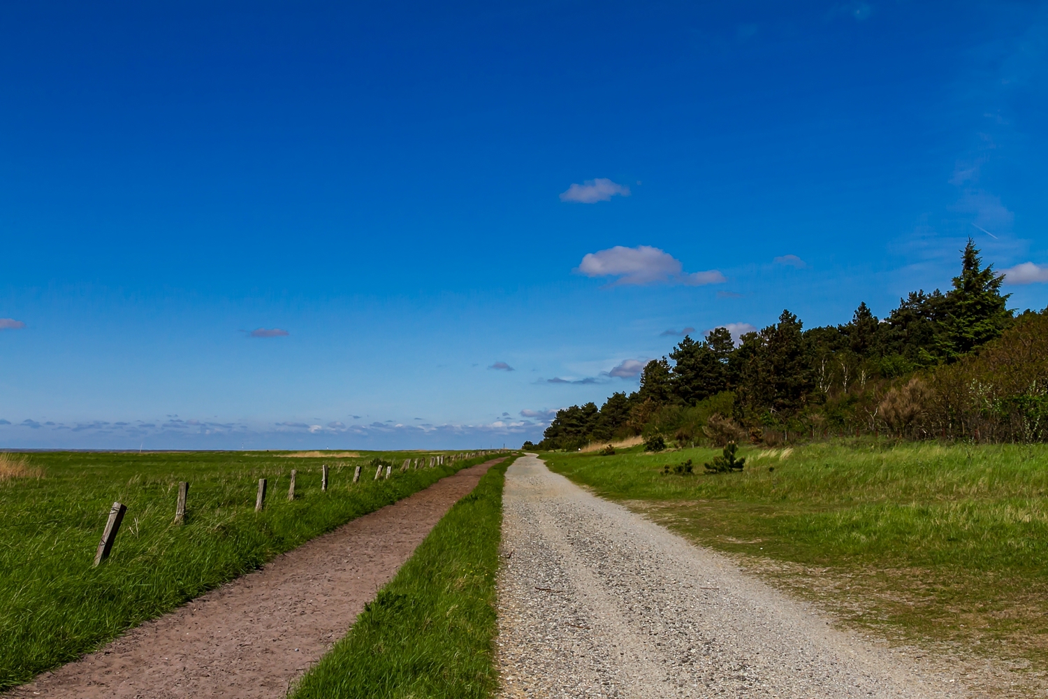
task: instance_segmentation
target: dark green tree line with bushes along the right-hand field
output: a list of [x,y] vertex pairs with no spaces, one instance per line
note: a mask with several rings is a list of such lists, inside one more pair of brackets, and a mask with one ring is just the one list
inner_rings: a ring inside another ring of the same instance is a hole
[[878,319],[805,329],[788,310],[742,335],[685,335],[645,366],[640,387],[556,413],[538,449],[634,435],[678,443],[777,443],[830,434],[1036,441],[1048,422],[1048,309],[1020,315],[969,239],[942,292]]

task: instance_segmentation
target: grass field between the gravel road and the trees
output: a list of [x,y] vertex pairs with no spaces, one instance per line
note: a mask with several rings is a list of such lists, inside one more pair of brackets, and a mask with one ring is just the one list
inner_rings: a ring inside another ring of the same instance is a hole
[[[543,458],[849,625],[1048,667],[1048,447],[746,447],[742,473],[702,473],[718,453]],[[661,473],[689,458],[695,475]]]

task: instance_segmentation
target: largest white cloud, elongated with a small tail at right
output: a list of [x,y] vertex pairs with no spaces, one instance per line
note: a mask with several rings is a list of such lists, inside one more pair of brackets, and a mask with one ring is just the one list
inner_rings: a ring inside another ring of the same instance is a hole
[[618,277],[615,284],[721,284],[727,280],[716,269],[684,274],[683,265],[669,253],[651,245],[588,253],[575,271],[587,277]]

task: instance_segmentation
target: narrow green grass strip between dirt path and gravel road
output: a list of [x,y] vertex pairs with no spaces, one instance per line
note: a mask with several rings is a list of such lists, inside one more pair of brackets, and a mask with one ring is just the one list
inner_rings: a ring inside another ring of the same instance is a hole
[[433,528],[349,634],[303,677],[294,699],[488,697],[502,526],[512,457]]

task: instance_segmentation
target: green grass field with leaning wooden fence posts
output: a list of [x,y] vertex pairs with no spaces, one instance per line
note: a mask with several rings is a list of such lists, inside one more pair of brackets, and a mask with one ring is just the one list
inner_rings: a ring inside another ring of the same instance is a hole
[[[415,453],[282,458],[276,452],[31,453],[0,478],[0,690],[111,640],[278,553],[429,486],[477,457],[399,472]],[[429,455],[427,455],[429,456]],[[372,458],[396,464],[373,480]],[[330,467],[321,492],[321,464]],[[353,471],[363,464],[361,482]],[[287,500],[297,468],[296,499]],[[260,478],[268,479],[255,512]],[[190,483],[174,523],[178,481]],[[112,554],[92,568],[109,508],[127,505]]]

